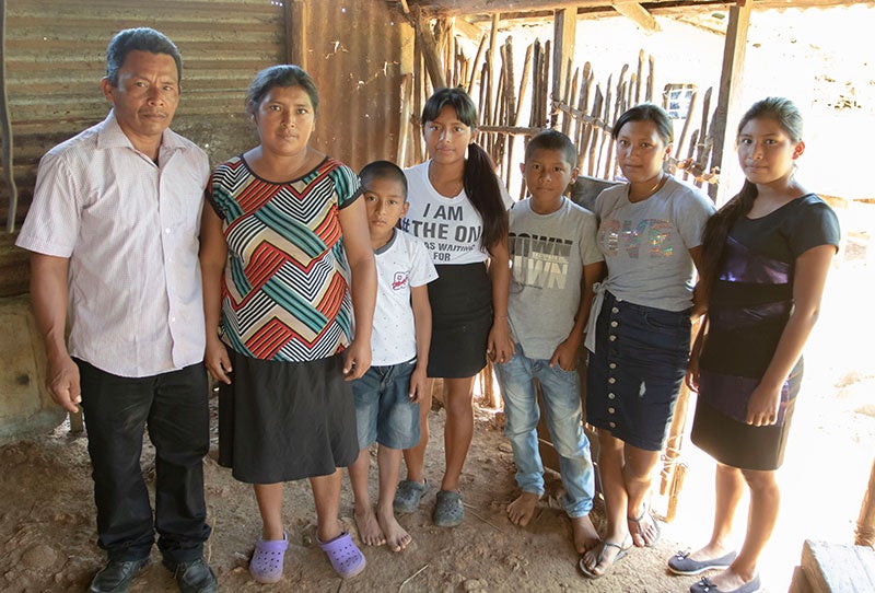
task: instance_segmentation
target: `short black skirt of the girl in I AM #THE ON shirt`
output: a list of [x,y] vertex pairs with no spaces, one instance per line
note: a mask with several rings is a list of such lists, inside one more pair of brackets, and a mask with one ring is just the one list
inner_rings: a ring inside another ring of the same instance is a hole
[[429,376],[474,376],[486,367],[486,347],[492,328],[492,282],[486,264],[435,268],[438,279],[429,283],[432,316]]

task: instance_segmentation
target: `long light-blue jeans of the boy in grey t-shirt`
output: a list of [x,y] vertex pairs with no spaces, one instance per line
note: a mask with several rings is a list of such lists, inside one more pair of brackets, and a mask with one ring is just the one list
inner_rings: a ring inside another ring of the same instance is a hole
[[549,360],[529,359],[516,345],[504,364],[495,364],[504,398],[504,434],[513,447],[516,484],[524,492],[544,493],[544,465],[538,453],[537,426],[540,419],[534,380],[540,382],[547,428],[559,454],[559,470],[565,487],[563,505],[571,518],[584,516],[593,509],[595,475],[590,441],[583,432],[581,382],[576,369],[551,369]]

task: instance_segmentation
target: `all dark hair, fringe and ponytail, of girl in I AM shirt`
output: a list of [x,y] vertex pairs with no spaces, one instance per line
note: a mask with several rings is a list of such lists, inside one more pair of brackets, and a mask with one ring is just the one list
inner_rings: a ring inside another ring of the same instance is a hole
[[[429,97],[422,107],[422,125],[434,121],[441,109],[450,105],[459,121],[477,128],[477,107],[468,93],[462,89],[441,89]],[[468,159],[463,173],[465,195],[483,221],[480,246],[485,248],[508,241],[508,210],[495,176],[495,165],[489,154],[477,143],[468,144]]]

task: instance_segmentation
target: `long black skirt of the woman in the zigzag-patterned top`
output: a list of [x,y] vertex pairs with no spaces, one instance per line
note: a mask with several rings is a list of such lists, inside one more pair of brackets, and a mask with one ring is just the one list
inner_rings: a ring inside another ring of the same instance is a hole
[[229,354],[231,385],[219,384],[219,464],[235,479],[328,476],[355,461],[355,404],[342,353],[306,362]]

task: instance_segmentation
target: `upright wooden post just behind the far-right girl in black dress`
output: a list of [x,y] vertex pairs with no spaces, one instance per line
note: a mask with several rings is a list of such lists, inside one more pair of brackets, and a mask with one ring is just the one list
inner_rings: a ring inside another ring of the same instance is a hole
[[[718,107],[714,125],[710,132],[714,142],[711,166],[721,170],[723,168],[723,156],[732,153],[735,140],[732,133],[726,136],[726,130],[732,129],[730,123],[737,119],[735,117],[731,119],[731,116],[737,111],[742,96],[747,28],[750,24],[752,4],[754,2],[750,0],[739,0],[730,7],[730,23],[726,27],[726,43],[723,46],[723,70],[720,74],[718,91]],[[727,190],[724,183],[712,184],[708,188],[708,194],[715,202],[722,204]]]

